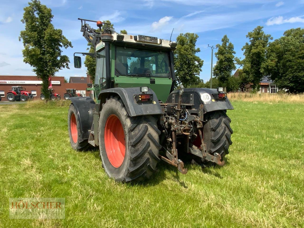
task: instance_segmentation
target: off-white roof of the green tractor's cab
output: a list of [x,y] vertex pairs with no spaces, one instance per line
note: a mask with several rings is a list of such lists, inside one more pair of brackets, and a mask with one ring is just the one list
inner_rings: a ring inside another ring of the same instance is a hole
[[[113,33],[113,42],[114,43],[125,43],[125,44],[130,44],[130,45],[149,45],[160,47],[160,48],[168,48],[174,50],[176,47],[176,42],[170,42],[169,40],[163,40],[163,39],[158,39],[157,37],[152,37],[152,36],[143,36],[143,35],[127,35],[127,34],[118,34],[118,33]],[[171,44],[171,45],[170,45]],[[173,45],[172,45],[173,44]],[[174,45],[175,44],[175,45]],[[103,42],[100,42],[96,45],[96,51],[104,47],[105,44]]]

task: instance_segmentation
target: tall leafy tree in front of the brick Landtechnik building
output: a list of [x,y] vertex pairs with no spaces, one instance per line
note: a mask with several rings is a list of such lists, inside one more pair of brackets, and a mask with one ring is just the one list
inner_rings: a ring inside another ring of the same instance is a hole
[[71,42],[62,35],[61,29],[55,29],[51,21],[54,15],[46,5],[32,0],[24,8],[23,19],[25,30],[20,32],[19,41],[23,42],[23,61],[33,67],[37,78],[42,80],[41,91],[47,99],[49,77],[54,76],[62,68],[69,69],[70,60],[61,55],[61,48],[73,47]]

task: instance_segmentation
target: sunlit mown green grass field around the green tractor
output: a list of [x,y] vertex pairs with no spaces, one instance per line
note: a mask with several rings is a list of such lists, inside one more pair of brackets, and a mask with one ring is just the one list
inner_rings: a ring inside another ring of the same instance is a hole
[[[0,105],[0,227],[304,227],[304,104],[234,101],[224,167],[160,163],[116,183],[71,149],[67,105]],[[65,219],[9,219],[10,197],[64,197]]]

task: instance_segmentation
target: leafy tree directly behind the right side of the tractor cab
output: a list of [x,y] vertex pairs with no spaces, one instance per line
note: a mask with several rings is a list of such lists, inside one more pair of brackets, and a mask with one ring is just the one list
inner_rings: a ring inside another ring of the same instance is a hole
[[201,82],[199,73],[204,61],[196,56],[200,52],[195,48],[196,40],[199,36],[195,33],[181,33],[177,38],[177,46],[174,51],[174,67],[177,81],[185,87],[199,84]]

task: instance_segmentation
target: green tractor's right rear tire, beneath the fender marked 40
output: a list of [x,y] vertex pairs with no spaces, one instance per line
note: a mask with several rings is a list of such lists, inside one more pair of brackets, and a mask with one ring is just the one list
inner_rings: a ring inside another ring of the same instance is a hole
[[232,144],[230,127],[231,119],[226,115],[226,110],[206,113],[204,115],[204,143],[210,154],[218,153],[222,160],[229,153],[228,148]]

